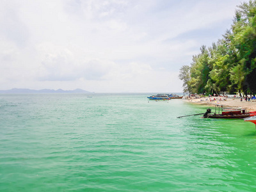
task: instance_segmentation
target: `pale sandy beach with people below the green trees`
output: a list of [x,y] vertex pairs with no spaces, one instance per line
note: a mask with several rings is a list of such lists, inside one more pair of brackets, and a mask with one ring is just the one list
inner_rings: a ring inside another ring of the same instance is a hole
[[195,97],[190,99],[184,99],[186,102],[191,102],[194,104],[204,104],[205,106],[215,106],[215,104],[220,104],[224,108],[244,108],[248,111],[256,111],[256,100],[250,101],[241,101],[239,98],[227,98],[225,97],[202,97],[200,99],[196,99]]

